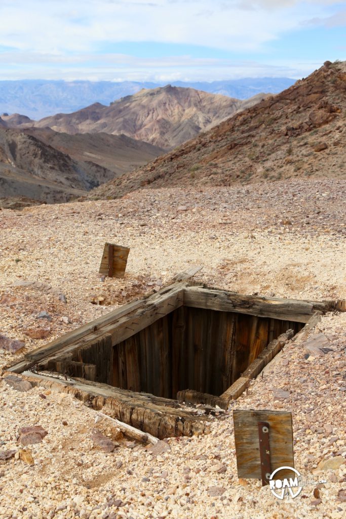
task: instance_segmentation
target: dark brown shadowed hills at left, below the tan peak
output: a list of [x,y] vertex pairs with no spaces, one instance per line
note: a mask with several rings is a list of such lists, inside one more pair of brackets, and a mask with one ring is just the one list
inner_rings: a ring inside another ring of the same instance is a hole
[[162,153],[125,135],[20,131],[6,124],[0,126],[0,206],[12,207],[13,198],[20,205],[67,201]]

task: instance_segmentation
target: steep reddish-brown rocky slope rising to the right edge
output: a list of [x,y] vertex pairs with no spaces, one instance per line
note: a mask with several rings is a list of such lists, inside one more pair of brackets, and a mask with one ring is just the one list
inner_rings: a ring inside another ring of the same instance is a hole
[[93,190],[90,197],[118,197],[141,186],[344,178],[345,121],[346,62],[326,62],[287,90]]

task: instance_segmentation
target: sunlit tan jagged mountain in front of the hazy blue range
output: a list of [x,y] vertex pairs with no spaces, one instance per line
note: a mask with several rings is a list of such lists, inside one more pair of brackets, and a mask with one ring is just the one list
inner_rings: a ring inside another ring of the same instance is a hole
[[[241,101],[193,88],[167,85],[142,89],[114,101],[110,106],[94,103],[72,114],[45,117],[34,126],[48,126],[72,134],[123,133],[133,139],[172,149],[264,97],[265,94],[257,94]],[[20,126],[27,127],[25,123]]]

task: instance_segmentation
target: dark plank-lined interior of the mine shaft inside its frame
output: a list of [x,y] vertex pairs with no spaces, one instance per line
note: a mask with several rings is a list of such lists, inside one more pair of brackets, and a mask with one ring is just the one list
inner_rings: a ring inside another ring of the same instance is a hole
[[273,339],[304,325],[181,306],[112,348],[108,384],[169,399],[186,389],[219,396]]

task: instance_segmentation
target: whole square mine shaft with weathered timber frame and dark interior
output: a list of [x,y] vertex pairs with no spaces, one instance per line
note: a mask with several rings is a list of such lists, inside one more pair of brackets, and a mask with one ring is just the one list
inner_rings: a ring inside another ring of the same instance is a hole
[[8,373],[105,407],[160,439],[202,434],[216,406],[227,409],[294,334],[346,311],[344,300],[245,295],[183,274],[26,353]]

